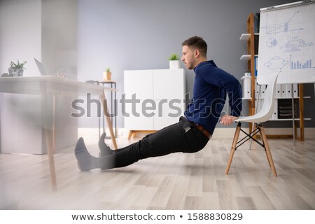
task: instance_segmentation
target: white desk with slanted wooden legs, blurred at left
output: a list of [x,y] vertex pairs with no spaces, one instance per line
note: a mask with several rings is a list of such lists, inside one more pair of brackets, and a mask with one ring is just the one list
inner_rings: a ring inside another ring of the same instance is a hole
[[[83,83],[69,78],[60,78],[57,76],[36,76],[36,77],[7,77],[0,78],[0,92],[13,94],[37,94],[43,97],[42,109],[43,113],[42,124],[45,130],[45,140],[47,144],[47,154],[50,167],[50,179],[52,189],[57,188],[56,174],[55,174],[55,103],[56,94],[67,94],[74,97],[79,95],[98,95],[102,99],[104,115],[106,123],[109,127],[113,147],[117,149],[115,135],[113,133],[113,126],[109,118],[109,111],[107,108],[106,97],[104,90],[115,90],[109,87],[102,87],[100,85],[93,85],[90,83]],[[69,105],[71,106],[71,105]]]

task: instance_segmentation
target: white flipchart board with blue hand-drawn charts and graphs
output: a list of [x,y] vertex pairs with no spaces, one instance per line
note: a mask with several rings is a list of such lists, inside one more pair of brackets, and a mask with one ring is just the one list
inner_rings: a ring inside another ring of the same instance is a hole
[[258,83],[315,83],[315,1],[260,9]]

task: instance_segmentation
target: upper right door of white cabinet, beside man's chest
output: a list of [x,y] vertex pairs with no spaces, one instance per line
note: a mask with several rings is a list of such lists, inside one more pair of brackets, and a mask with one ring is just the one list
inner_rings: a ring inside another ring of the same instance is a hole
[[183,69],[153,70],[154,99],[183,99],[185,71]]

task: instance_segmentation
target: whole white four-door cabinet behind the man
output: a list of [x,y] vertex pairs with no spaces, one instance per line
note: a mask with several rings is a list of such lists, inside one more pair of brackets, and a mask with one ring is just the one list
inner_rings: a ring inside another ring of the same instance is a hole
[[160,130],[179,121],[186,109],[185,71],[124,71],[125,129]]

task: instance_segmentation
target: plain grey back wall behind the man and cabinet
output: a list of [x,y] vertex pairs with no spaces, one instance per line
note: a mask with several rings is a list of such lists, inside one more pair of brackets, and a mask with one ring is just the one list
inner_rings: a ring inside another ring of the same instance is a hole
[[[123,94],[123,71],[127,69],[167,69],[172,52],[181,55],[181,42],[189,36],[203,36],[209,45],[208,58],[237,78],[247,70],[239,57],[246,53],[249,13],[292,0],[92,0],[78,1],[78,79],[101,80],[111,67]],[[187,71],[186,90],[192,92],[194,75]],[[314,96],[314,85],[306,92]],[[315,127],[314,99],[305,101],[305,116],[312,116],[306,127]],[[311,105],[311,106],[309,106]],[[118,108],[120,111],[120,108]],[[244,103],[244,113],[247,112]],[[291,123],[275,123],[290,127]],[[97,118],[81,119],[80,127],[97,127]],[[118,127],[123,117],[118,114]]]

